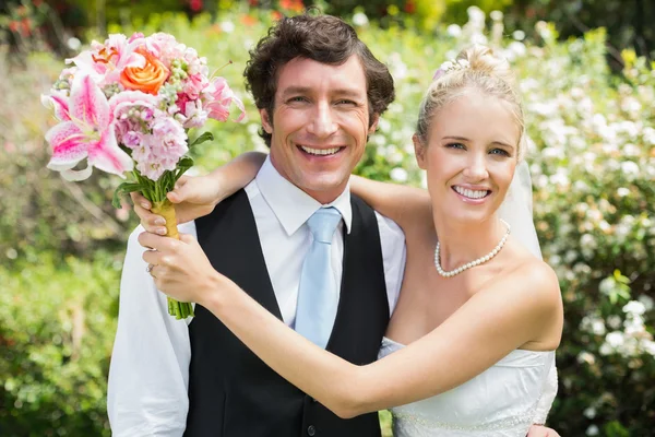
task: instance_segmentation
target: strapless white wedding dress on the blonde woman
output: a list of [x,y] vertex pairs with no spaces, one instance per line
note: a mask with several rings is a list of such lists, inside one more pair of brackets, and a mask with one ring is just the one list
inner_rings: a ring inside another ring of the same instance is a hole
[[[379,357],[402,344],[384,338]],[[391,409],[394,437],[525,437],[557,392],[555,352],[512,351],[444,393]]]

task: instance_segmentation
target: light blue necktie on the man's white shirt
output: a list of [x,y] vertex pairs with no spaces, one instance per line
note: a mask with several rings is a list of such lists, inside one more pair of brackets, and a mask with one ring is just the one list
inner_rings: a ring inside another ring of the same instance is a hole
[[321,347],[327,345],[338,304],[330,249],[341,218],[334,208],[321,208],[307,221],[313,241],[300,273],[295,328]]

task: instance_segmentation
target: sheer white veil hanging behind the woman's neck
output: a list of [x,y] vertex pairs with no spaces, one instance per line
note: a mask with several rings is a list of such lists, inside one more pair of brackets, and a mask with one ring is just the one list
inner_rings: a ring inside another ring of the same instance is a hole
[[543,259],[533,221],[532,203],[529,167],[523,160],[514,170],[514,178],[498,212],[500,217],[512,226],[512,234],[516,239],[535,257]]

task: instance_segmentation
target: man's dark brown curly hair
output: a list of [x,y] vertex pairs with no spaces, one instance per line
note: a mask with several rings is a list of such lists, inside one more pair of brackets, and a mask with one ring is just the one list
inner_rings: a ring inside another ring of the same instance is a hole
[[[364,68],[369,101],[369,122],[381,115],[395,97],[393,78],[385,64],[359,40],[349,24],[332,15],[302,15],[283,17],[269,34],[250,50],[246,66],[246,87],[252,92],[258,109],[265,109],[273,120],[277,74],[295,58],[311,59],[332,66],[345,63],[357,55]],[[271,134],[263,129],[260,135],[271,146]]]

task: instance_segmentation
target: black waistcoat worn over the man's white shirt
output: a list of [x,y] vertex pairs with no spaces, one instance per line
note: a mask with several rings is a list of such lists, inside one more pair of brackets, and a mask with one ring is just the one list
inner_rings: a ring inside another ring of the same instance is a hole
[[[354,196],[352,205],[353,226],[350,234],[344,233],[341,297],[327,350],[367,364],[377,358],[389,304],[374,212]],[[196,228],[214,268],[282,319],[246,192],[221,202],[196,221]],[[200,305],[189,334],[186,437],[380,436],[377,413],[338,418],[274,373]]]

